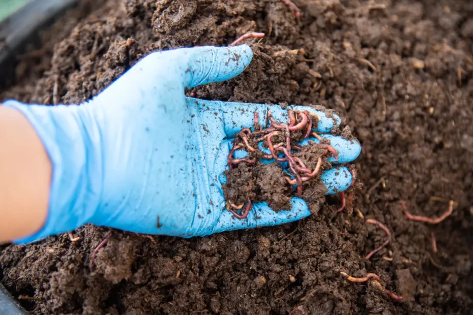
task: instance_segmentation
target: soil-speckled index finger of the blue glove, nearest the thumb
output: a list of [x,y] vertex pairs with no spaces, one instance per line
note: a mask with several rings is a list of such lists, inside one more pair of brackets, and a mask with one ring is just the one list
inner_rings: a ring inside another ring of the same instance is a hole
[[[200,101],[202,102],[202,101]],[[211,101],[207,101],[211,102]],[[288,106],[283,109],[279,105],[253,104],[253,103],[235,103],[221,102],[223,111],[223,120],[225,121],[225,134],[227,137],[234,137],[244,128],[252,128],[254,122],[254,113],[258,113],[258,123],[263,128],[269,127],[268,111],[276,121],[287,122],[287,109],[306,110],[320,117],[319,121],[312,126],[312,130],[320,133],[328,133],[335,125],[340,125],[341,119],[331,110],[323,107],[313,108],[308,106]]]

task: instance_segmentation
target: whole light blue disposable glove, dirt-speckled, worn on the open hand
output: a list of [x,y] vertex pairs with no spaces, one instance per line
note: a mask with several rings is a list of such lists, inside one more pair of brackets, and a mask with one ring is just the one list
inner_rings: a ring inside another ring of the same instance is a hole
[[[53,166],[47,222],[18,242],[86,223],[191,237],[308,216],[299,198],[292,199],[291,211],[275,212],[257,203],[243,220],[224,210],[222,173],[232,136],[252,127],[254,111],[263,125],[269,109],[279,121],[287,121],[286,111],[275,105],[187,98],[184,88],[237,76],[252,57],[247,45],[155,52],[80,106],[4,103],[32,123]],[[329,132],[334,119],[311,111],[322,117],[314,130]],[[340,163],[360,153],[357,141],[326,137],[340,151]],[[345,190],[351,174],[345,167],[334,168],[324,171],[322,179],[331,194]]]

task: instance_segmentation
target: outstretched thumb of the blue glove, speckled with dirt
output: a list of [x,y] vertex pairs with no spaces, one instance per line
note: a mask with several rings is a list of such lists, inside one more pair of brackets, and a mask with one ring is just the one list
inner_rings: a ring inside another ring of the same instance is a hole
[[185,48],[180,52],[188,56],[187,64],[182,68],[183,83],[188,88],[238,76],[253,58],[253,51],[248,45]]

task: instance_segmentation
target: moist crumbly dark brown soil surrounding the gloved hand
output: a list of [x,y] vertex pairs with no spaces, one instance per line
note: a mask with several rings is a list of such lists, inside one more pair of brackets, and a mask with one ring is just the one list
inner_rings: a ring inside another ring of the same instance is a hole
[[[18,57],[0,100],[80,103],[146,53],[263,32],[245,41],[254,59],[242,75],[187,92],[336,110],[363,148],[352,205],[337,213],[340,198],[328,196],[300,222],[203,238],[88,225],[75,243],[58,235],[2,245],[0,280],[28,311],[471,313],[473,2],[293,1],[299,19],[280,0],[83,1]],[[408,220],[401,207],[437,217],[450,199],[453,213],[437,225]],[[386,234],[368,218],[392,234],[369,260]],[[375,273],[403,299],[340,272]]]

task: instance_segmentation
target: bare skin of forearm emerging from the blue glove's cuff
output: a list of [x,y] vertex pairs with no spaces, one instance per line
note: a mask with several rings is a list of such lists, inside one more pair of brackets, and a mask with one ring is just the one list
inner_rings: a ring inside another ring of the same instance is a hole
[[52,166],[28,120],[0,106],[0,243],[39,231],[48,213]]

